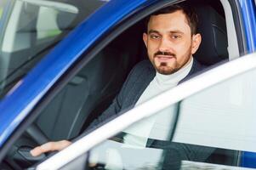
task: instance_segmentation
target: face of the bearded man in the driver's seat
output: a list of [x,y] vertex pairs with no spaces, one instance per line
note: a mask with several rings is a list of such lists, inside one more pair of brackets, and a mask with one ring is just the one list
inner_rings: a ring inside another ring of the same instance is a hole
[[191,36],[191,27],[183,11],[152,15],[143,40],[152,65],[161,74],[179,71],[196,53],[200,34]]

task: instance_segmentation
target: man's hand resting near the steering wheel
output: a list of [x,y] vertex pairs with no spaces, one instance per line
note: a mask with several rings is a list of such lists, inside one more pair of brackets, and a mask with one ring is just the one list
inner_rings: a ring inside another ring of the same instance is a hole
[[33,150],[31,150],[31,156],[40,156],[43,153],[49,152],[49,151],[60,151],[65,149],[67,146],[71,144],[68,140],[60,140],[57,142],[48,142],[45,144],[42,144],[40,146],[37,146]]

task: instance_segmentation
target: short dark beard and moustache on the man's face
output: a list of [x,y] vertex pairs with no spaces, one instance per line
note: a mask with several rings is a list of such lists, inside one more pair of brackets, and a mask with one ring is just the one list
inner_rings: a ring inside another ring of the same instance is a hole
[[[158,54],[173,56],[174,60],[171,61],[172,62],[171,65],[169,62],[164,62],[164,61],[156,65],[156,62],[154,59]],[[174,72],[179,71],[179,69],[181,69],[184,65],[186,65],[188,61],[191,59],[191,47],[185,52],[184,55],[179,56],[179,58],[182,59],[180,63],[178,62],[177,56],[175,54],[156,52],[156,54],[154,54],[154,58],[151,60],[151,63],[154,65],[156,71],[159,72],[160,74],[163,74],[163,75],[174,74]]]

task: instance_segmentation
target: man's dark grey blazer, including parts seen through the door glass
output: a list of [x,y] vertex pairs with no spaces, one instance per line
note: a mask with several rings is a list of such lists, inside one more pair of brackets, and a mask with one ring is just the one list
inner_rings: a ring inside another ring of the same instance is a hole
[[[200,65],[196,59],[194,59],[191,71],[181,82],[189,79],[196,72],[202,71],[203,68],[204,66]],[[105,120],[109,119],[111,116],[117,116],[117,114],[122,114],[124,111],[133,108],[140,95],[145,91],[145,88],[147,88],[155,76],[156,70],[149,60],[143,60],[135,65],[112,104],[100,117],[98,117],[98,119],[92,122],[88,128],[97,127],[97,125],[101,124],[100,122],[105,122]],[[154,142],[152,140],[150,143],[147,143],[148,147],[153,148],[161,148],[161,145],[161,142]],[[206,161],[208,156],[210,156],[214,150],[209,147],[173,142],[164,145],[165,146],[162,149],[166,150],[166,145],[168,145],[168,151],[166,152],[163,169],[170,169],[170,167],[171,169],[179,169],[181,160]]]

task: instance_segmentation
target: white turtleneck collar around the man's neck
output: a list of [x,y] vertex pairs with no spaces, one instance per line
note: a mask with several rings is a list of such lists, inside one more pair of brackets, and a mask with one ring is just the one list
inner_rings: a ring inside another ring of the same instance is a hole
[[157,88],[160,88],[161,90],[166,90],[168,88],[173,88],[174,86],[177,86],[177,84],[189,74],[189,72],[191,71],[192,65],[193,65],[193,58],[191,58],[191,60],[187,65],[185,65],[179,71],[176,71],[171,75],[162,75],[156,72],[156,77],[154,78],[155,79],[154,82],[156,82]]

